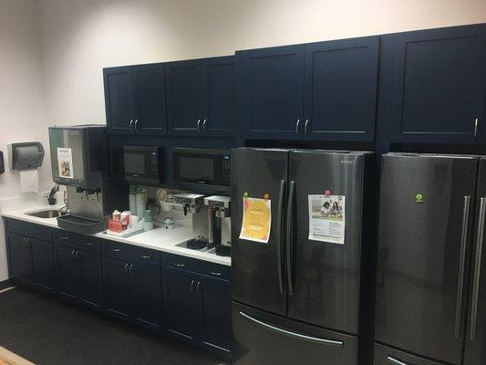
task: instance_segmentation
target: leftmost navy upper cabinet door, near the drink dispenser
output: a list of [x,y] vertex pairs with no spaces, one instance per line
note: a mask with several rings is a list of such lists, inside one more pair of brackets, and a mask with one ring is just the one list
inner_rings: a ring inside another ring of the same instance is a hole
[[130,120],[135,117],[131,68],[105,68],[103,77],[108,132],[112,134],[131,133]]

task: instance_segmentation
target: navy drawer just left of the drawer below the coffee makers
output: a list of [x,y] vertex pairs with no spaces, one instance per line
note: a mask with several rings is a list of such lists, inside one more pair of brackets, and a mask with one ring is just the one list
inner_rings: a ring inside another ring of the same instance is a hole
[[126,245],[114,241],[103,241],[103,255],[129,260],[134,263],[160,266],[160,252],[136,245]]

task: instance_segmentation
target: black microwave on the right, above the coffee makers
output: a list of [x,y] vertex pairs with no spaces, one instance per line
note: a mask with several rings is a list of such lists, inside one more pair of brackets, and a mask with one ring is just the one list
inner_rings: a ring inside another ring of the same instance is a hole
[[228,150],[174,148],[174,183],[191,189],[229,191],[230,156]]

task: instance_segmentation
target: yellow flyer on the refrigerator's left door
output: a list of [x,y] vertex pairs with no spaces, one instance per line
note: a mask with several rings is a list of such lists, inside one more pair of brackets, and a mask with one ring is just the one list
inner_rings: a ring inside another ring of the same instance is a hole
[[272,224],[272,202],[270,199],[243,197],[243,224],[240,238],[268,243]]

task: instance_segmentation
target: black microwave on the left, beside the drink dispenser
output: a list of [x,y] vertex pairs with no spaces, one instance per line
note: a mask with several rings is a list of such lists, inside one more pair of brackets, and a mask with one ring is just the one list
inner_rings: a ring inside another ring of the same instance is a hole
[[111,149],[113,177],[124,183],[163,183],[163,147],[116,146]]

